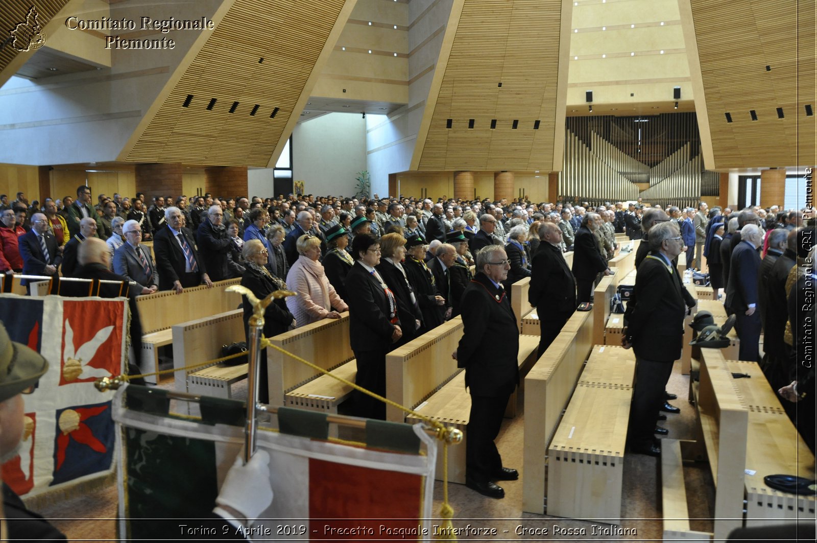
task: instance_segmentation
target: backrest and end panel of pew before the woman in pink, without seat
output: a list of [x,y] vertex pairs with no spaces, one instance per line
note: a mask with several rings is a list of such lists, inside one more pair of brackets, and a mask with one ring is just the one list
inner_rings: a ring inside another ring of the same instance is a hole
[[[332,370],[355,358],[349,343],[349,312],[339,319],[322,319],[270,338],[271,343],[324,370]],[[269,367],[270,405],[283,406],[283,395],[321,375],[275,349],[266,350]]]

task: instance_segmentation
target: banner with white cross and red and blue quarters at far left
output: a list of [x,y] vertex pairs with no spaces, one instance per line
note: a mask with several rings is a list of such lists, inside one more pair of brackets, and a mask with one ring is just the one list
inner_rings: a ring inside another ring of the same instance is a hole
[[19,455],[0,468],[2,480],[29,498],[110,475],[114,393],[100,393],[94,380],[123,373],[127,298],[0,294],[0,321],[12,341],[49,364],[34,393],[23,396],[25,433]]

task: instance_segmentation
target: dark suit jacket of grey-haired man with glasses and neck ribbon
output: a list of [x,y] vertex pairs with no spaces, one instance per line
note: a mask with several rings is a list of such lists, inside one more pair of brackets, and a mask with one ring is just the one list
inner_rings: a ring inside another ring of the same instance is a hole
[[465,384],[473,396],[497,397],[519,383],[519,329],[504,289],[477,273],[462,295],[463,333],[457,366],[465,368]]

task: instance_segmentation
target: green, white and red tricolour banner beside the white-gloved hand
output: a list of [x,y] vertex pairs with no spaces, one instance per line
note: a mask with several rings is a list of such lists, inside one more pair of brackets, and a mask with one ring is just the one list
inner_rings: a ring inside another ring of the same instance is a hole
[[[169,405],[162,391],[135,385],[114,398],[123,451],[119,536],[235,536],[190,530],[208,529],[196,519],[207,518],[243,449],[243,402],[202,397],[202,419],[173,415]],[[328,438],[322,413],[281,407],[277,418],[280,432],[257,433],[257,447],[270,453],[275,497],[246,535],[279,541],[433,538],[437,443],[420,424],[367,421],[366,442],[349,443]]]

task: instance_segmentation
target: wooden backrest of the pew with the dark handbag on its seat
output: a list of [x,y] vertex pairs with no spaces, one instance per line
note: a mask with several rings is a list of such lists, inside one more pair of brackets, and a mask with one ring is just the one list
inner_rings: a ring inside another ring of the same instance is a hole
[[[172,326],[173,366],[183,368],[221,357],[221,346],[244,341],[243,310],[218,313]],[[206,366],[205,366],[206,367]],[[199,368],[198,370],[201,370]],[[198,370],[176,371],[177,391],[187,391],[187,375]]]

